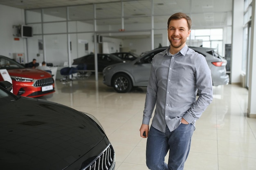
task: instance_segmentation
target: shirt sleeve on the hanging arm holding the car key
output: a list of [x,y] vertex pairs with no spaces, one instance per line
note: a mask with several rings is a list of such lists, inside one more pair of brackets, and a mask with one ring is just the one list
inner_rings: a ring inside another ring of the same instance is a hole
[[142,124],[149,124],[157,100],[157,78],[155,75],[153,62],[154,58],[150,68],[150,77],[148,80]]

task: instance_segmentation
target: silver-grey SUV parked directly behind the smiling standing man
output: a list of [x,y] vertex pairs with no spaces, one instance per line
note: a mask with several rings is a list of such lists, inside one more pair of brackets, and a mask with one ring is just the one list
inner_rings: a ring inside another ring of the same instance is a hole
[[[152,58],[166,48],[154,49],[131,62],[107,66],[103,69],[103,83],[112,86],[118,93],[127,93],[136,86],[147,86]],[[192,46],[189,48],[206,58],[211,69],[213,86],[229,84],[229,75],[226,73],[227,60],[211,48]]]

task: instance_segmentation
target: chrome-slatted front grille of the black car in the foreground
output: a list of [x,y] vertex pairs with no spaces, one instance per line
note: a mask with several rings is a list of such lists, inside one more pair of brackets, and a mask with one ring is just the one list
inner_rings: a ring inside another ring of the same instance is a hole
[[83,170],[110,170],[110,168],[113,169],[114,167],[114,165],[112,166],[113,163],[115,163],[115,152],[110,145]]

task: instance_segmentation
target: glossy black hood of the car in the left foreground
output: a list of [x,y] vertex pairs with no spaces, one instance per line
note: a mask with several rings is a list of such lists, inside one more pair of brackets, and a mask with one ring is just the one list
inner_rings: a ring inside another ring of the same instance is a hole
[[81,157],[87,159],[86,153],[107,141],[87,115],[23,97],[0,102],[0,131],[0,166],[4,170],[63,170]]

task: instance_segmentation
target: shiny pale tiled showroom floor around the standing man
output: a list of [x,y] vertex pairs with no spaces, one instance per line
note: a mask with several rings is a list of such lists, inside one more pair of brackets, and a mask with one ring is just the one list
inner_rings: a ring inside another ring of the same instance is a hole
[[[146,88],[116,93],[89,79],[62,84],[42,97],[94,115],[116,152],[116,170],[147,170],[146,139],[139,136]],[[196,123],[185,170],[256,170],[256,119],[246,117],[247,89],[214,87],[214,99]]]

